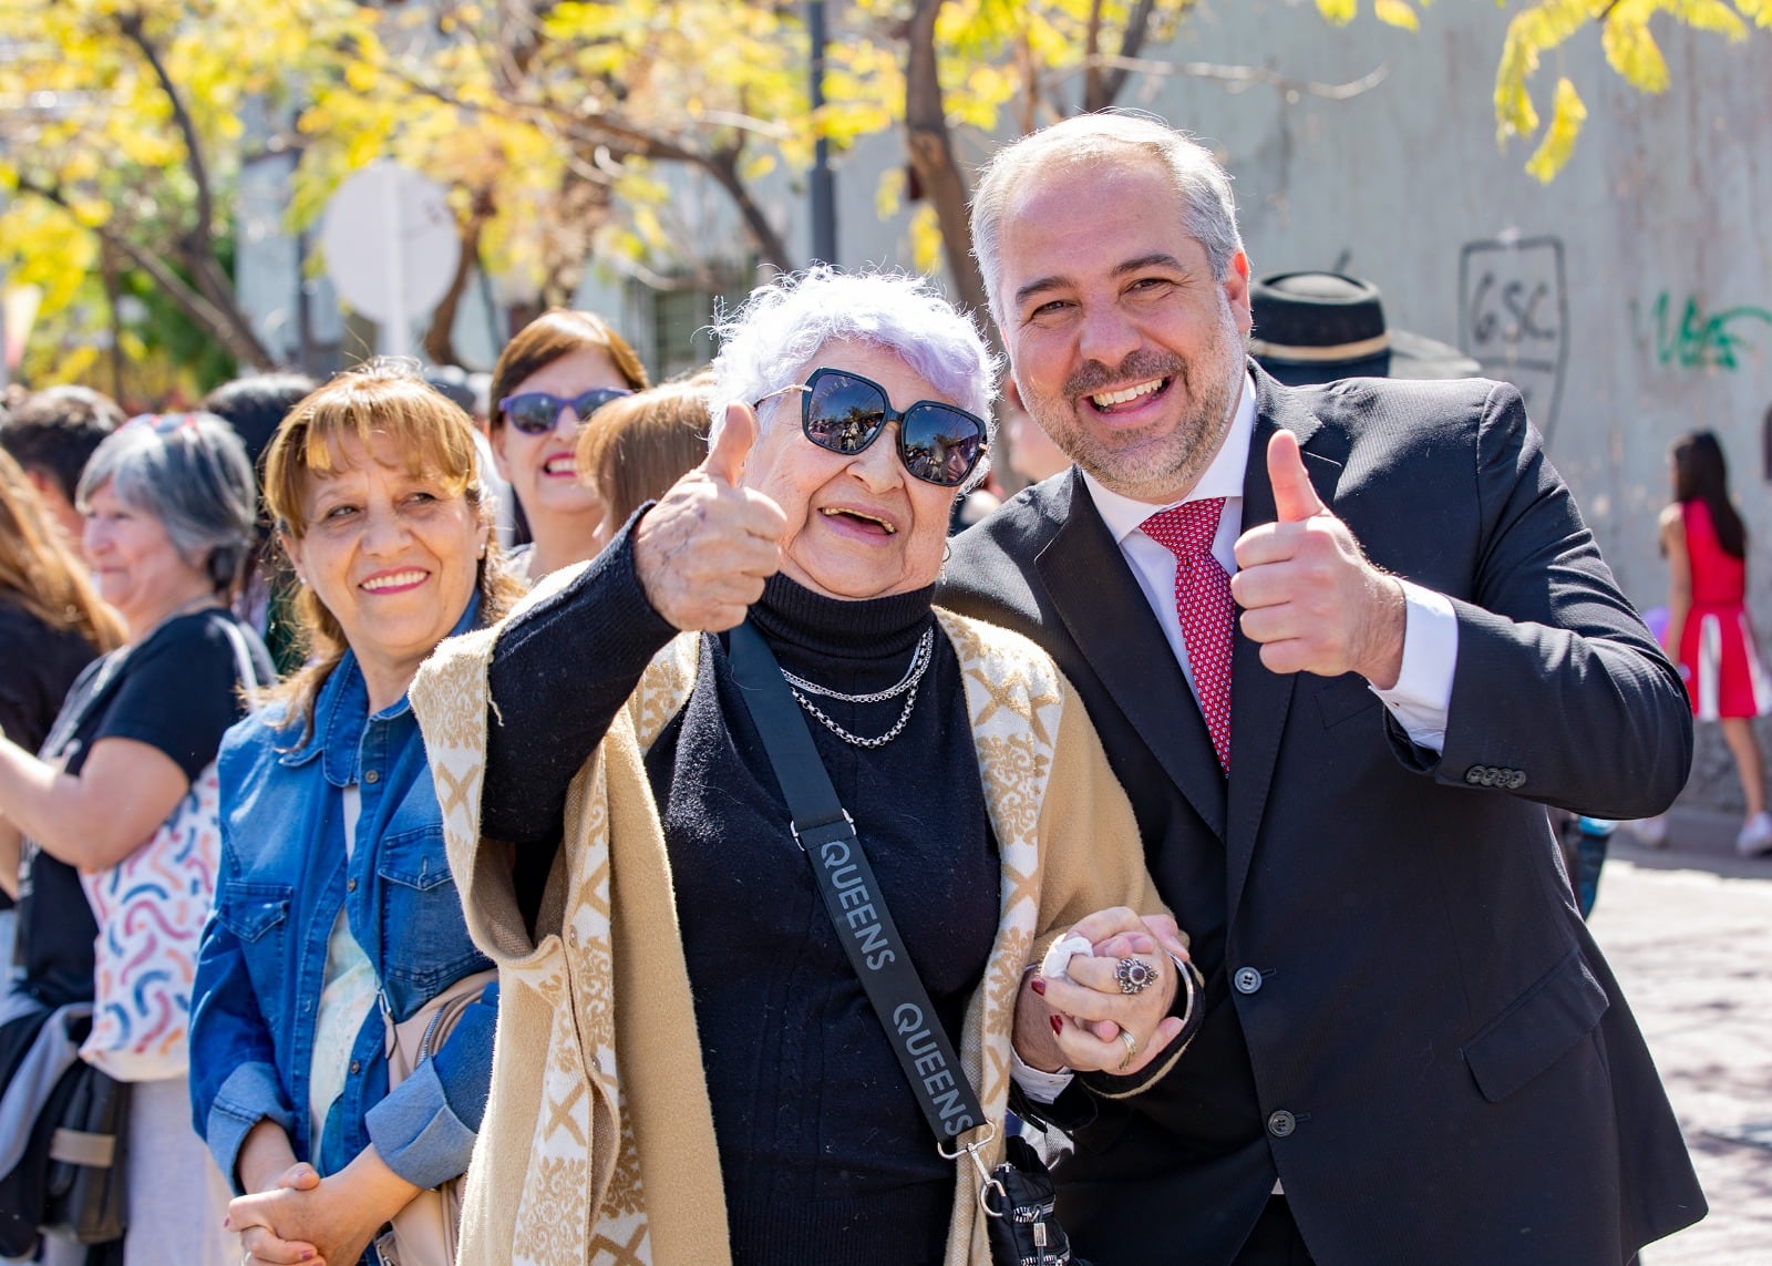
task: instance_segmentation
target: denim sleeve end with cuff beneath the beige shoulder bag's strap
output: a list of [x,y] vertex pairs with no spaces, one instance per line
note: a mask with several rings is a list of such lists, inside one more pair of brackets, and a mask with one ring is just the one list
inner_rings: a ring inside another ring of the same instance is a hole
[[415,1186],[438,1186],[468,1170],[493,1083],[498,982],[462,1011],[448,1041],[369,1110],[376,1153]]

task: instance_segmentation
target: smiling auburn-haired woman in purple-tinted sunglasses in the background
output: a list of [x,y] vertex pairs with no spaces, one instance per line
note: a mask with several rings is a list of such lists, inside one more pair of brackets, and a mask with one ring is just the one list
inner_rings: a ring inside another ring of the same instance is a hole
[[647,371],[602,317],[553,309],[530,321],[493,367],[493,456],[510,481],[532,544],[514,571],[540,580],[590,559],[602,498],[579,479],[574,445],[602,404],[647,385]]

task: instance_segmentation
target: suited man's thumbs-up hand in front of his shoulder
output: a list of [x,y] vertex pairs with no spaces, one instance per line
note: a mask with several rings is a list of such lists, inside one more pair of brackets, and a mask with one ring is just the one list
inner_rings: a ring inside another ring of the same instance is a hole
[[1230,580],[1244,608],[1242,631],[1262,645],[1272,672],[1357,672],[1389,690],[1403,668],[1402,583],[1366,562],[1354,534],[1317,496],[1290,431],[1269,442],[1267,477],[1279,520],[1237,539]]

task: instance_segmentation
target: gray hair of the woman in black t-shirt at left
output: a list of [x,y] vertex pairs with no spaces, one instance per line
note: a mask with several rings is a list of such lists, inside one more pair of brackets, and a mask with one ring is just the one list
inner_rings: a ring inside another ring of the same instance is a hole
[[209,576],[218,594],[239,580],[252,550],[257,488],[239,434],[214,413],[131,418],[94,452],[74,504],[110,484],[129,509],[167,528],[172,548]]

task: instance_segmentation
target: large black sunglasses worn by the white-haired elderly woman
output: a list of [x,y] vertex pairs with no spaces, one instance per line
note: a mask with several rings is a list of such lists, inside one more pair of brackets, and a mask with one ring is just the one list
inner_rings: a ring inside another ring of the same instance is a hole
[[898,461],[925,484],[959,488],[985,450],[985,424],[966,410],[918,401],[897,413],[884,387],[847,369],[815,369],[804,383],[769,392],[757,408],[785,392],[801,394],[799,429],[826,452],[863,452],[897,422]]

